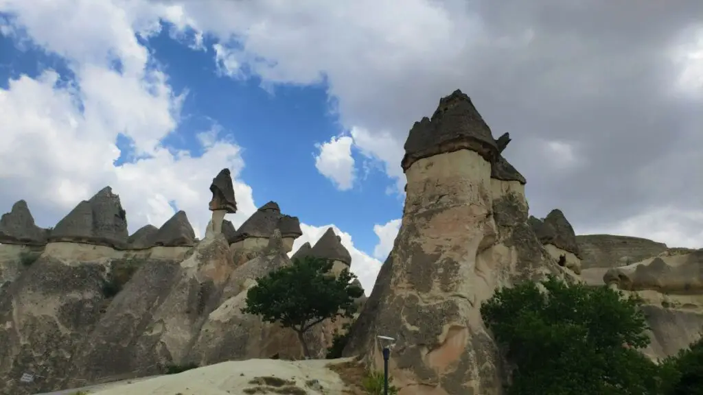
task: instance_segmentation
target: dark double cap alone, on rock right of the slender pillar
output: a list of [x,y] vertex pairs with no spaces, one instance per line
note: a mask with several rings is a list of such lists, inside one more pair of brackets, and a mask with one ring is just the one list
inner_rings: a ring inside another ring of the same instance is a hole
[[268,202],[244,221],[233,242],[245,238],[270,238],[275,229],[280,230],[283,238],[297,238],[302,235],[297,217],[280,214],[278,203]]

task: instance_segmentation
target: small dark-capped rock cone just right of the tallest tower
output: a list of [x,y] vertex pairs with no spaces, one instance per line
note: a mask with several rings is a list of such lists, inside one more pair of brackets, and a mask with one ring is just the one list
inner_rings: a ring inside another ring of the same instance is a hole
[[576,233],[561,210],[552,210],[544,220],[530,216],[528,223],[542,245],[560,265],[576,274],[581,273],[581,252],[576,243]]

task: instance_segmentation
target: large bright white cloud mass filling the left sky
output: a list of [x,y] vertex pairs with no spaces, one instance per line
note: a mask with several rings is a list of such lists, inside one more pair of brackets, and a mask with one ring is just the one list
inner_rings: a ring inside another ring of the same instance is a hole
[[[174,201],[202,234],[209,219],[209,183],[229,167],[240,211],[231,219],[238,226],[254,212],[251,188],[237,179],[244,167],[237,145],[212,131],[202,131],[201,157],[160,145],[178,126],[183,96],[172,91],[136,39],[158,28],[159,13],[167,11],[159,7],[0,1],[0,11],[13,15],[13,34],[24,30],[34,44],[65,58],[75,74],[75,83],[65,84],[45,70],[0,89],[3,206],[24,198],[39,224],[53,226],[80,200],[110,185],[127,210],[131,231],[147,223],[160,226],[172,216],[169,201]],[[121,73],[112,70],[115,60]],[[115,166],[119,134],[131,139],[141,159]]]

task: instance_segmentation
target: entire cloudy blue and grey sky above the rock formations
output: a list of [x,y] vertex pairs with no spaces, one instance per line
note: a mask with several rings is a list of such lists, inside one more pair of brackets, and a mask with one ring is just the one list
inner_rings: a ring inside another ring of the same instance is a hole
[[403,144],[462,89],[576,233],[703,247],[703,2],[0,0],[0,212],[53,226],[104,186],[129,230],[198,235],[231,169],[329,226],[370,292],[400,226]]

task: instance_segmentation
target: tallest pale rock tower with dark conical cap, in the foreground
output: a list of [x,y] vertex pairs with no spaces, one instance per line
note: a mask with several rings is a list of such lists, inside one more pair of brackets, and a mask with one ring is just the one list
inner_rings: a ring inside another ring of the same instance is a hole
[[401,228],[344,353],[380,368],[375,336],[389,335],[401,394],[499,394],[501,358],[479,306],[496,287],[561,270],[527,224],[524,178],[468,96],[442,98],[405,150]]

